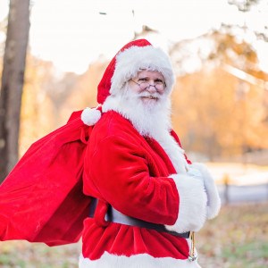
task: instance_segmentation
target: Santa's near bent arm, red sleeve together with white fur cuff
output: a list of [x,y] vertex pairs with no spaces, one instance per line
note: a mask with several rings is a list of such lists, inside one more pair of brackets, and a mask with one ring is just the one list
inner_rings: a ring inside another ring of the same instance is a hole
[[[177,231],[200,229],[204,224],[205,217],[199,214],[206,204],[203,185],[187,175],[150,176],[147,155],[137,144],[105,138],[88,160],[90,178],[100,195],[122,214],[170,225],[179,214],[185,223]],[[192,209],[198,212],[198,221],[189,213]]]

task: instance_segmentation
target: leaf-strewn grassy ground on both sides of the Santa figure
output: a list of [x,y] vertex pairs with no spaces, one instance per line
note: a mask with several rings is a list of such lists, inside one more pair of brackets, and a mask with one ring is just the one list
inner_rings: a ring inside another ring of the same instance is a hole
[[[196,234],[203,268],[268,267],[268,203],[224,205]],[[0,242],[1,268],[77,268],[81,243],[47,247],[25,241]]]

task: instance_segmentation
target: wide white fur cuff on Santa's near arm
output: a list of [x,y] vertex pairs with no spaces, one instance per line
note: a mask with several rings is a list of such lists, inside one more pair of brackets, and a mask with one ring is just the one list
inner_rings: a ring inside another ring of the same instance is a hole
[[180,205],[178,219],[174,225],[165,225],[168,230],[186,232],[200,230],[206,219],[207,197],[203,181],[188,175],[173,174],[177,186]]

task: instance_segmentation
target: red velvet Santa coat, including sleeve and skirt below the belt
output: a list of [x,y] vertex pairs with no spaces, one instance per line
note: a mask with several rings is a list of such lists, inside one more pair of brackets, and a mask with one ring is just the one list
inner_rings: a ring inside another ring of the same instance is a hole
[[[172,136],[179,141],[173,131]],[[177,221],[180,196],[170,177],[176,171],[155,139],[142,137],[130,121],[109,111],[103,114],[91,133],[84,167],[84,193],[98,198],[102,205],[96,208],[94,219],[84,221],[84,258],[81,258],[80,267],[91,267],[90,264],[99,259],[102,264],[99,267],[105,267],[105,260],[107,267],[113,267],[111,262],[116,262],[114,267],[121,267],[122,256],[130,257],[133,264],[135,255],[158,260],[171,260],[172,257],[172,261],[177,261],[175,264],[179,264],[179,260],[188,263],[186,239],[105,222],[107,204],[122,214],[147,222],[173,225]],[[142,261],[143,265],[145,261]],[[126,262],[129,263],[124,259],[123,264]]]

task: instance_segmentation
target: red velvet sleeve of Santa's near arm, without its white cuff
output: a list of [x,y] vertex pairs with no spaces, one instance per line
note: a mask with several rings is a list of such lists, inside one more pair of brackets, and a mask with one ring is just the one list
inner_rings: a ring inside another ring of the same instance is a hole
[[151,177],[145,150],[125,138],[103,139],[88,157],[89,177],[122,214],[147,222],[175,222],[179,195],[171,178]]

